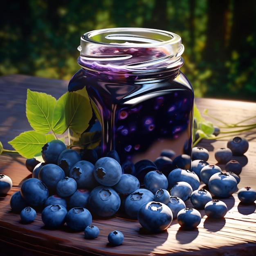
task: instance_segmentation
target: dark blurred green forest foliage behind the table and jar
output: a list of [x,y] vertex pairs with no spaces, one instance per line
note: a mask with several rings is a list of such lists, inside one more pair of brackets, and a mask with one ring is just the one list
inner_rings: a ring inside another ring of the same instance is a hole
[[80,36],[108,27],[179,34],[196,97],[256,100],[255,0],[2,0],[0,75],[66,79]]

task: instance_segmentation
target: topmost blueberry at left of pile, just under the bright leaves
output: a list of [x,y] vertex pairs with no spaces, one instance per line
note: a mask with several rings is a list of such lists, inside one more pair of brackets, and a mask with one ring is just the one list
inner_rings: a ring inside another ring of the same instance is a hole
[[41,151],[45,163],[58,164],[58,157],[65,149],[67,149],[65,143],[59,139],[46,143]]

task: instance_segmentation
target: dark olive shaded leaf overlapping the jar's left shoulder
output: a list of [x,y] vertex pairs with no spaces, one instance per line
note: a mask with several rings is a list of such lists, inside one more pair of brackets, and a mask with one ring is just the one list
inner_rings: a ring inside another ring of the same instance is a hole
[[66,125],[73,133],[81,134],[92,119],[92,106],[85,88],[69,92],[65,106]]

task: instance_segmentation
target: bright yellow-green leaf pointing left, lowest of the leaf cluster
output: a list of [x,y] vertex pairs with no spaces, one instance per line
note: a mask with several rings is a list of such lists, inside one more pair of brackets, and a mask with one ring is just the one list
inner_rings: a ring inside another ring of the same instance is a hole
[[15,148],[20,155],[26,158],[32,158],[41,152],[42,147],[49,141],[52,141],[52,134],[41,134],[36,131],[22,132],[8,143]]

